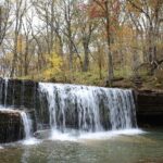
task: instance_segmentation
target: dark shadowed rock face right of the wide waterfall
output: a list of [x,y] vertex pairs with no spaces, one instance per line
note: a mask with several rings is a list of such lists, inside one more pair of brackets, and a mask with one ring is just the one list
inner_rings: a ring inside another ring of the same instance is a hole
[[135,91],[139,126],[163,126],[163,92]]

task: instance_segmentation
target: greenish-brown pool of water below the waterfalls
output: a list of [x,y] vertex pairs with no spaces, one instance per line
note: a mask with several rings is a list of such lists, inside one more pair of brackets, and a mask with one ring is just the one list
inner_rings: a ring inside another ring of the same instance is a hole
[[0,145],[0,163],[163,163],[163,129],[101,135]]

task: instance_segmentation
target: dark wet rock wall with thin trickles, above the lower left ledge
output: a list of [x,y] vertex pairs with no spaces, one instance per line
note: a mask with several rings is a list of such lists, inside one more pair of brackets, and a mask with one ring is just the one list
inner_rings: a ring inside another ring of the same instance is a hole
[[0,104],[36,108],[38,83],[0,78]]

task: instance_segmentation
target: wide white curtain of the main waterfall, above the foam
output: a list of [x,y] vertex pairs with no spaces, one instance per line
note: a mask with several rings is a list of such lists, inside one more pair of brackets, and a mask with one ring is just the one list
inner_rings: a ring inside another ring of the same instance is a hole
[[130,89],[39,83],[40,101],[47,99],[51,128],[86,131],[136,127]]

